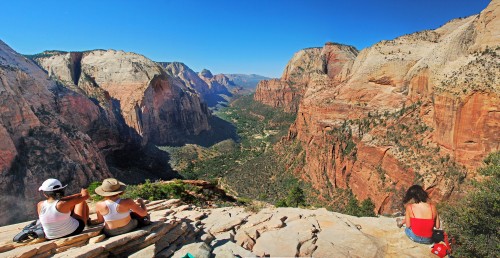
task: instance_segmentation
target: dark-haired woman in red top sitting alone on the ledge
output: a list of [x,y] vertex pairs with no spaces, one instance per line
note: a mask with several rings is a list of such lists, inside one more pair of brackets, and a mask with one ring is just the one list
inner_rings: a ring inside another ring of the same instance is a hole
[[414,242],[432,243],[432,229],[439,228],[439,215],[434,204],[428,203],[429,195],[419,185],[411,186],[403,198],[406,206],[404,219],[398,218],[398,227],[406,224],[405,233]]

